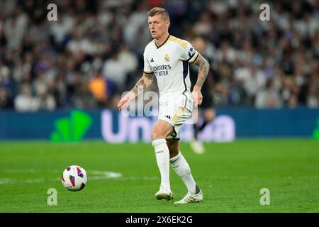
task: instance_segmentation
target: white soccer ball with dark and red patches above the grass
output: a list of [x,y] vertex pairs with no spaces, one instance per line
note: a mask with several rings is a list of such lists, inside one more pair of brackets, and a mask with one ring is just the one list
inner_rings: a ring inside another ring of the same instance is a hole
[[70,165],[62,174],[62,184],[69,191],[82,190],[87,182],[85,170],[79,165]]

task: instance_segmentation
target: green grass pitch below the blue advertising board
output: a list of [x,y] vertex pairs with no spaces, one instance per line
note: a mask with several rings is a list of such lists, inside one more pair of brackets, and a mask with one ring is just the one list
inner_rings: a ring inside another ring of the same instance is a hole
[[[186,187],[171,167],[173,201],[157,201],[159,170],[152,145],[1,142],[0,212],[318,212],[319,143],[306,139],[237,140],[206,143],[196,155],[181,151],[201,187],[204,201],[173,204]],[[80,165],[89,180],[80,192],[62,187],[68,165]],[[121,174],[107,175],[107,172]],[[57,205],[47,190],[57,189]],[[260,204],[269,189],[270,205]]]

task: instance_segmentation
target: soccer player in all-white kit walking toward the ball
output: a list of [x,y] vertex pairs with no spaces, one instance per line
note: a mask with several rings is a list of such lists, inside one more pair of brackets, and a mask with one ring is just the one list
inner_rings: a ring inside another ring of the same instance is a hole
[[[201,87],[209,70],[208,62],[186,40],[169,34],[169,14],[155,7],[148,13],[148,25],[153,40],[144,51],[144,72],[133,89],[118,102],[118,109],[126,109],[130,101],[152,84],[154,76],[159,88],[159,117],[152,128],[152,146],[161,184],[155,194],[157,199],[173,199],[169,182],[169,163],[183,180],[188,192],[175,204],[203,201],[203,193],[197,186],[191,169],[179,150],[181,125],[191,118],[193,104],[200,105],[203,96]],[[198,79],[191,93],[189,64],[198,65]],[[195,103],[194,103],[195,102]]]

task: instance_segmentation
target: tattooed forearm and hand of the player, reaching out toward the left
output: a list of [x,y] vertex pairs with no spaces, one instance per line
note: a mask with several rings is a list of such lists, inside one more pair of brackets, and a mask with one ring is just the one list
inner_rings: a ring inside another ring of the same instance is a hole
[[130,101],[135,99],[138,95],[145,91],[147,87],[149,87],[153,82],[154,74],[153,73],[145,73],[143,72],[142,77],[138,80],[132,90],[125,94],[125,96],[118,102],[118,109],[122,110],[128,107]]

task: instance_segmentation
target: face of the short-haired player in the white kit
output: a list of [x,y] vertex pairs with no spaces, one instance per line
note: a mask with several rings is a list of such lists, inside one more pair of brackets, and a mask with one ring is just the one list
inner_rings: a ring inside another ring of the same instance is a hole
[[148,17],[148,27],[150,28],[150,33],[152,38],[159,39],[167,33],[169,26],[169,21],[165,21],[161,14],[157,14],[152,17]]

